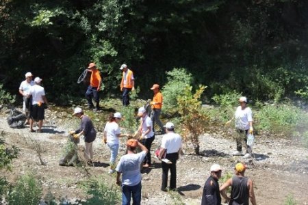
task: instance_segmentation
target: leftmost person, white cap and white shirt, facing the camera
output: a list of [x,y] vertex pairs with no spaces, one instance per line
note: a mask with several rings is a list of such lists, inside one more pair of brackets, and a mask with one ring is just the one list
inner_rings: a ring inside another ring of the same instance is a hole
[[32,81],[33,75],[31,72],[27,72],[25,74],[25,81],[21,82],[19,86],[19,93],[23,96],[23,111],[27,117],[27,121],[25,124],[30,124],[30,108],[31,108],[31,98],[27,98],[30,88],[32,85],[35,85],[34,81]]

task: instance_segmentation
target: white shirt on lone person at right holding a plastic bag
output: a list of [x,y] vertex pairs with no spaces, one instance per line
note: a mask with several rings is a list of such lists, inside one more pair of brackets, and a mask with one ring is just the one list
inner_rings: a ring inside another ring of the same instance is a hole
[[253,121],[253,112],[249,107],[242,109],[239,106],[235,111],[235,128],[240,130],[248,130],[250,128],[249,122]]

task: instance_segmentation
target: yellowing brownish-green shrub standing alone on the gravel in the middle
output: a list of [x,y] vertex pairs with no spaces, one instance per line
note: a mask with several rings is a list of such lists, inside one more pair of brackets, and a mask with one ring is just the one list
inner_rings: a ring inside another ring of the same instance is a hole
[[200,154],[199,135],[205,132],[205,125],[209,122],[201,109],[200,98],[204,90],[205,86],[200,85],[192,94],[192,87],[187,86],[177,98],[183,141],[192,143],[195,154]]

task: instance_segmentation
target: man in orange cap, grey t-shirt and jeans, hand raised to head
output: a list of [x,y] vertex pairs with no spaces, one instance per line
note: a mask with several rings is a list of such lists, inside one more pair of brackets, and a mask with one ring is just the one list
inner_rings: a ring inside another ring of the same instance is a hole
[[[136,154],[136,148],[140,147],[142,152]],[[148,153],[148,149],[136,139],[127,141],[127,154],[121,156],[118,165],[116,166],[116,184],[122,184],[122,204],[131,204],[131,196],[133,204],[140,205],[141,203],[141,173],[140,165]],[[120,176],[122,174],[122,180]]]

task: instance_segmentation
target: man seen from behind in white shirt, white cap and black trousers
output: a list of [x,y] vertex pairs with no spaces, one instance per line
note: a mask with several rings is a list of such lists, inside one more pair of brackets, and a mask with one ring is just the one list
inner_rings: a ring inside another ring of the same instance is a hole
[[162,191],[167,191],[168,172],[170,169],[170,190],[177,188],[177,159],[182,147],[181,136],[175,133],[175,125],[167,122],[166,135],[162,137],[162,146],[159,150],[159,159],[168,159],[171,163],[162,161]]

